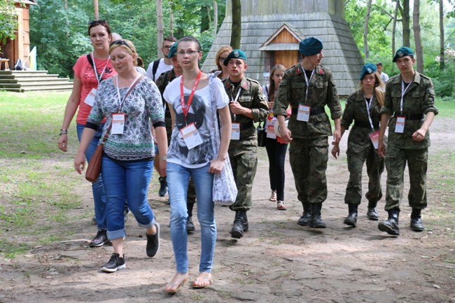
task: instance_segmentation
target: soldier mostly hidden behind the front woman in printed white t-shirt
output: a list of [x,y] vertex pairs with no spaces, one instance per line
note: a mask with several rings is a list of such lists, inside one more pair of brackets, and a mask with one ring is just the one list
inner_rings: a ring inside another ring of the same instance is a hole
[[[167,85],[172,82],[175,78],[182,75],[183,70],[177,59],[177,42],[171,46],[169,50],[169,59],[171,59],[172,69],[170,71],[165,71],[162,73],[158,80],[156,80],[156,86],[162,94],[165,93],[165,88]],[[165,106],[165,124],[166,124],[166,133],[167,133],[167,143],[171,143],[171,134],[172,134],[172,119],[171,113],[169,112],[169,107],[166,104],[165,99],[163,99],[163,106]],[[166,177],[165,177],[166,178]],[[193,223],[193,208],[196,203],[196,190],[195,183],[193,183],[193,178],[190,178],[190,183],[188,184],[188,192],[186,195],[186,207],[188,209],[188,218],[186,220],[186,232],[191,233],[196,230],[196,227]]]

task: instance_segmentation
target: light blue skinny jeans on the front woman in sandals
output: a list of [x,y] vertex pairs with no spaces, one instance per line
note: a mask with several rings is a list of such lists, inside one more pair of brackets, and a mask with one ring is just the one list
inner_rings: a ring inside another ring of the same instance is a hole
[[188,238],[186,234],[186,197],[190,176],[193,176],[196,189],[197,220],[201,225],[201,258],[199,271],[211,272],[214,262],[216,223],[212,186],[214,175],[209,173],[209,166],[188,169],[179,164],[167,163],[167,188],[171,206],[171,237],[177,272],[188,272]]

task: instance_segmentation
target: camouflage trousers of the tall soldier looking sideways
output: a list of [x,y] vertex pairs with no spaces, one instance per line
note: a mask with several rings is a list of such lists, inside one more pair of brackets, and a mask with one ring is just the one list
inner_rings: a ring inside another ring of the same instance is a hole
[[328,138],[290,141],[290,168],[293,171],[297,199],[303,204],[319,204],[327,199],[325,171],[328,162]]

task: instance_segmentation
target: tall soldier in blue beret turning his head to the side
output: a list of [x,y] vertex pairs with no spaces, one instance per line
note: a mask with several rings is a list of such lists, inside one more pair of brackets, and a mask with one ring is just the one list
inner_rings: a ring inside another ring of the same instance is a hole
[[[328,136],[332,135],[325,106],[330,109],[331,118],[335,122],[335,143],[341,137],[342,116],[332,72],[320,64],[323,58],[322,48],[322,42],[314,37],[300,41],[302,60],[284,73],[273,108],[279,121],[281,139],[290,141],[290,167],[297,198],[303,206],[302,216],[297,223],[314,228],[325,228],[321,208],[327,199],[325,170],[328,162]],[[287,127],[285,118],[289,105],[292,114]]]

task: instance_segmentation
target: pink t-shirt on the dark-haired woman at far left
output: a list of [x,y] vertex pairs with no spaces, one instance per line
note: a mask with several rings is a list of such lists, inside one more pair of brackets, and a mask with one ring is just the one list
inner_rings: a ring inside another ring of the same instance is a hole
[[[109,60],[109,62],[108,62]],[[107,63],[107,65],[106,65]],[[94,59],[94,64],[97,66],[98,77],[103,73],[102,79],[106,79],[116,75],[116,70],[113,69],[111,59]],[[85,98],[89,94],[92,88],[98,87],[97,77],[94,74],[93,65],[88,62],[87,55],[80,56],[76,64],[73,66],[74,75],[80,79],[82,87],[80,88],[80,100],[79,100],[79,111],[76,117],[76,122],[81,125],[85,125],[87,117],[92,106],[84,102]]]

